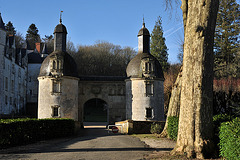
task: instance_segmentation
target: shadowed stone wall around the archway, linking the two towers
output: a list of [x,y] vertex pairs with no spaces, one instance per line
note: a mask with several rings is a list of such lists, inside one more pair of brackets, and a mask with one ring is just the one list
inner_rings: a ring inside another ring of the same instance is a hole
[[79,120],[83,122],[84,104],[98,98],[107,103],[108,123],[126,119],[124,81],[79,81]]

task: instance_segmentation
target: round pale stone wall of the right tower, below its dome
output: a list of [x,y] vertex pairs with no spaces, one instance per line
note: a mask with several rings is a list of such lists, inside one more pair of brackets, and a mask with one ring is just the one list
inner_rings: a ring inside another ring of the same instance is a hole
[[[164,94],[163,81],[154,80],[151,82],[152,94],[147,93],[146,80],[132,78],[126,80],[126,110],[127,118],[136,121],[156,120],[164,121]],[[152,117],[146,116],[146,109],[152,110]]]

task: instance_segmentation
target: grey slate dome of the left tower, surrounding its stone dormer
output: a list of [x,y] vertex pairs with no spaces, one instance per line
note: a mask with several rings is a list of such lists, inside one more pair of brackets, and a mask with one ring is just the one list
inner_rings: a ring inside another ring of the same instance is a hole
[[40,69],[39,77],[51,76],[50,57],[55,54],[63,56],[63,76],[78,77],[76,62],[67,52],[63,51],[54,51],[45,58]]

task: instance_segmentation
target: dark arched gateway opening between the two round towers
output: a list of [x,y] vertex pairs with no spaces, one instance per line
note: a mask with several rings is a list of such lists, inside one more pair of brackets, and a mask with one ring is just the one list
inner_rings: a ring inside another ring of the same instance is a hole
[[108,122],[108,105],[99,98],[93,98],[84,103],[84,122]]

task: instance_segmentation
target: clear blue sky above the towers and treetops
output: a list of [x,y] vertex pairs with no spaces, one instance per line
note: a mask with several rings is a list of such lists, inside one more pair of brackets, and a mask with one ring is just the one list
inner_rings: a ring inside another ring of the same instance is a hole
[[0,0],[4,23],[11,21],[24,37],[32,23],[41,38],[53,34],[63,11],[62,23],[75,46],[93,45],[100,40],[137,50],[143,17],[151,33],[161,16],[168,60],[173,64],[179,62],[183,23],[180,1],[172,7],[166,10],[165,0]]

